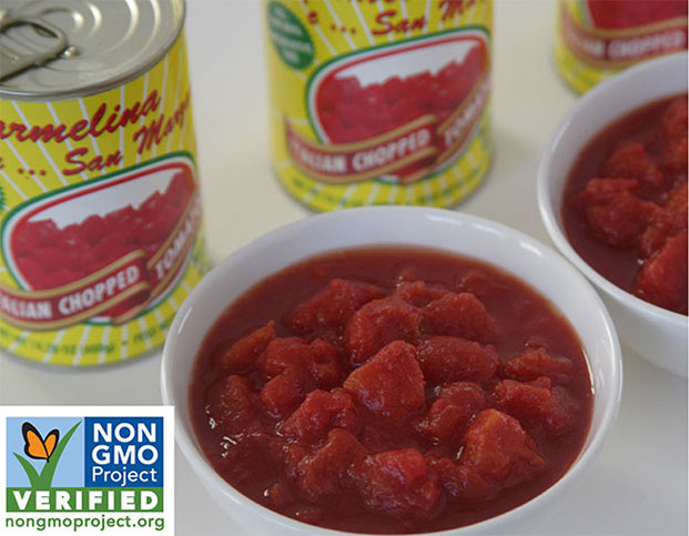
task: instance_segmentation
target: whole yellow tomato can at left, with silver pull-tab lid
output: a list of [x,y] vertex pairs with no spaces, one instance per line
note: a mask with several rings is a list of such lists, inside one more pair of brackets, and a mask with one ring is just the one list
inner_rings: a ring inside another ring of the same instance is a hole
[[163,343],[207,270],[183,0],[9,0],[0,347],[60,365]]

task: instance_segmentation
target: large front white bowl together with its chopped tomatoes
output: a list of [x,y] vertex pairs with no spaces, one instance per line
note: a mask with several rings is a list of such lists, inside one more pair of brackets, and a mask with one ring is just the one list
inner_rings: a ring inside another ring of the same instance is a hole
[[221,262],[175,316],[161,385],[251,534],[514,534],[602,447],[621,353],[592,286],[534,239],[362,208]]

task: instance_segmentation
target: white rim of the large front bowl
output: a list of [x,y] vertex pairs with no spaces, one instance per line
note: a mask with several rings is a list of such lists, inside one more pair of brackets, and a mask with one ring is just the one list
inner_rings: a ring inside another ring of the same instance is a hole
[[[609,432],[612,428],[617,419],[617,415],[619,413],[620,401],[622,396],[622,354],[621,354],[621,347],[619,344],[617,332],[615,330],[615,324],[612,323],[612,320],[610,317],[610,314],[605,303],[602,302],[600,296],[596,293],[591,284],[586,280],[586,277],[584,277],[584,275],[581,275],[581,273],[579,273],[571,264],[569,264],[558,252],[545,245],[544,243],[539,242],[535,237],[527,235],[520,231],[517,231],[513,227],[509,227],[505,224],[501,224],[501,223],[498,223],[498,222],[495,222],[488,219],[469,215],[469,214],[462,213],[462,212],[448,211],[445,209],[425,208],[425,206],[364,206],[364,208],[347,209],[344,211],[325,212],[325,213],[321,213],[316,215],[306,216],[304,219],[297,220],[296,222],[292,222],[284,226],[274,229],[259,236],[257,239],[249,242],[247,244],[244,244],[240,249],[235,250],[234,252],[225,256],[211,272],[209,272],[203,277],[203,280],[192,290],[192,293],[186,297],[186,300],[181,305],[180,310],[174,316],[174,320],[170,327],[168,338],[165,340],[165,345],[162,352],[161,385],[160,385],[161,395],[162,395],[163,404],[173,405],[175,407],[175,412],[174,412],[175,413],[175,439],[180,446],[180,449],[184,454],[189,464],[192,466],[192,469],[196,474],[202,475],[202,477],[200,477],[202,485],[206,487],[206,489],[209,489],[210,492],[211,489],[215,492],[215,493],[212,493],[214,498],[216,500],[230,499],[235,505],[246,508],[247,517],[250,517],[250,514],[254,518],[256,516],[261,516],[264,518],[267,517],[272,523],[276,524],[277,526],[290,528],[292,530],[300,530],[303,534],[308,534],[308,535],[323,534],[323,535],[328,535],[328,536],[344,536],[344,535],[361,534],[361,533],[347,533],[343,530],[320,527],[316,525],[311,525],[311,524],[284,516],[282,514],[278,514],[254,502],[253,499],[249,498],[247,496],[243,495],[241,492],[235,489],[230,483],[224,481],[220,476],[220,474],[217,474],[215,469],[211,466],[210,462],[207,461],[207,458],[201,451],[200,446],[197,445],[197,439],[195,437],[192,437],[192,435],[188,434],[186,428],[183,426],[184,422],[190,422],[191,419],[189,418],[189,416],[180,414],[180,411],[178,406],[175,405],[175,402],[179,398],[179,396],[189,397],[189,384],[186,384],[186,387],[188,387],[186,392],[178,394],[178,398],[175,398],[174,388],[173,388],[173,384],[174,384],[173,372],[174,372],[174,363],[176,362],[176,360],[173,357],[174,355],[173,347],[175,345],[176,338],[181,336],[180,332],[181,332],[181,328],[183,327],[183,324],[185,323],[185,320],[190,313],[190,310],[194,306],[193,302],[202,293],[202,290],[206,286],[211,286],[216,281],[221,281],[223,277],[225,277],[226,275],[224,274],[224,272],[230,270],[230,267],[235,262],[237,262],[237,260],[254,255],[257,251],[261,251],[262,249],[265,249],[271,243],[275,243],[276,241],[278,241],[281,236],[296,234],[301,232],[302,230],[304,230],[305,227],[316,226],[321,222],[327,221],[331,219],[356,218],[358,213],[364,213],[364,212],[372,213],[372,214],[381,213],[382,216],[388,213],[392,214],[392,213],[397,213],[397,212],[417,213],[418,216],[428,218],[432,220],[437,219],[437,218],[442,218],[442,219],[450,218],[454,220],[459,220],[463,223],[466,223],[467,225],[470,225],[473,227],[484,227],[484,229],[487,227],[494,232],[497,231],[504,234],[506,233],[510,235],[514,240],[519,241],[520,243],[526,243],[530,250],[537,251],[539,255],[543,257],[544,263],[547,262],[549,264],[559,266],[558,271],[563,272],[563,274],[566,275],[568,281],[570,281],[570,279],[576,280],[579,285],[582,285],[585,289],[588,289],[589,297],[597,304],[599,312],[601,313],[602,318],[604,318],[602,325],[600,326],[600,330],[601,330],[600,335],[605,337],[606,342],[609,343],[609,346],[611,348],[610,355],[606,357],[610,362],[610,371],[611,371],[610,377],[609,378],[606,377],[605,380],[606,391],[609,391],[609,395],[604,398],[604,405],[600,408],[600,422],[599,422],[598,429],[595,432],[594,435],[591,435],[591,429],[589,429],[588,435],[587,435],[587,443],[585,443],[582,449],[579,452],[577,457],[571,462],[567,471],[553,485],[550,485],[548,488],[543,491],[540,494],[536,495],[535,497],[531,497],[529,500],[527,500],[526,503],[515,508],[504,512],[503,514],[499,514],[494,517],[489,517],[480,522],[476,522],[470,525],[465,525],[462,527],[438,530],[438,532],[433,532],[433,533],[416,533],[414,536],[455,536],[455,535],[458,536],[460,534],[472,534],[472,532],[474,530],[480,530],[483,534],[485,530],[489,530],[492,528],[500,529],[500,527],[504,527],[505,524],[513,518],[523,518],[523,517],[528,517],[529,515],[533,515],[535,512],[541,508],[541,505],[544,503],[547,503],[548,500],[554,498],[558,493],[571,487],[570,485],[571,482],[575,481],[578,474],[581,471],[584,471],[589,465],[591,459],[594,459],[597,456],[597,454],[599,453],[602,445],[605,444],[609,435]],[[381,243],[384,243],[384,241],[382,241]],[[391,243],[393,242],[391,241]],[[414,244],[414,245],[418,245],[418,244]],[[357,246],[352,245],[347,247],[355,249]],[[430,247],[430,249],[442,251],[440,247]],[[323,252],[326,252],[326,251],[331,251],[331,250],[323,250]],[[447,251],[448,253],[453,253],[449,250]],[[455,254],[460,254],[460,253],[455,252]],[[308,259],[310,256],[313,256],[313,255],[314,254],[301,256],[300,260],[292,261],[292,263],[300,262],[301,260]],[[473,255],[466,254],[466,256],[473,256]],[[486,262],[486,263],[493,263],[495,265],[495,263],[488,259],[482,259],[477,255],[474,255],[473,257],[479,261]],[[276,269],[275,271],[277,270],[280,269]],[[519,281],[523,281],[529,287],[534,286],[528,281],[524,280],[524,277],[515,274],[514,272],[510,272],[508,269],[501,267],[501,270],[504,270],[506,273],[510,274],[511,276],[517,277]],[[546,300],[548,300],[556,310],[558,309],[557,305],[553,302],[550,296],[546,295],[544,292],[539,290],[534,289],[534,291],[540,294],[541,296],[544,296]],[[591,386],[596,388],[596,386],[594,385],[595,371],[588,357],[589,351],[591,350],[584,346],[584,355],[587,361],[589,374],[591,376]],[[194,355],[191,358],[195,361],[196,355]],[[191,424],[191,426],[192,426],[192,433],[193,433],[193,424]],[[590,439],[590,442],[588,439]],[[217,497],[217,494],[222,495],[222,497]],[[225,510],[225,513],[227,512]]]

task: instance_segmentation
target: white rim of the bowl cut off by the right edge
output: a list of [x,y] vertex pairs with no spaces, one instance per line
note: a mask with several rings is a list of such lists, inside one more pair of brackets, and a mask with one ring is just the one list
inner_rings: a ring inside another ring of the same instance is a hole
[[[675,63],[681,63],[686,67],[687,58],[688,52],[683,51],[641,62],[626,69],[625,71],[616,74],[615,77],[602,81],[590,91],[588,91],[586,94],[584,94],[580,99],[578,99],[577,102],[557,123],[557,127],[553,131],[553,134],[550,135],[549,141],[541,153],[540,162],[538,163],[536,188],[538,210],[540,212],[540,218],[545,224],[546,231],[548,232],[557,249],[567,257],[567,260],[571,262],[577,267],[577,270],[585,274],[586,277],[590,280],[596,286],[614,297],[617,302],[624,304],[627,307],[630,307],[636,312],[640,312],[647,316],[650,316],[656,321],[670,323],[673,330],[679,330],[687,324],[687,315],[660,307],[650,302],[641,300],[640,297],[635,296],[634,294],[625,291],[624,289],[620,289],[612,282],[608,281],[596,270],[594,270],[594,267],[591,267],[571,246],[569,240],[567,240],[567,234],[557,218],[557,213],[561,208],[563,199],[560,196],[560,199],[557,200],[557,208],[554,206],[554,202],[550,201],[551,185],[554,181],[549,179],[549,174],[550,168],[553,165],[554,155],[557,153],[561,138],[565,132],[571,127],[571,124],[576,123],[577,117],[579,117],[581,110],[591,105],[591,103],[596,102],[598,99],[602,99],[609,93],[619,91],[621,88],[635,87],[635,84],[630,82],[649,77],[656,70],[669,69],[670,67],[665,67],[666,64],[675,65]],[[637,104],[634,108],[630,108],[625,113],[630,113],[641,105],[644,104]],[[622,115],[619,117],[621,118]],[[612,121],[615,121],[615,119],[606,122],[606,125],[610,124]],[[605,129],[605,125],[599,128],[596,132],[588,136],[587,142],[598,135],[601,129]],[[580,154],[582,149],[584,145],[578,149],[577,154]],[[568,176],[564,179],[563,186],[566,185],[567,179]]]

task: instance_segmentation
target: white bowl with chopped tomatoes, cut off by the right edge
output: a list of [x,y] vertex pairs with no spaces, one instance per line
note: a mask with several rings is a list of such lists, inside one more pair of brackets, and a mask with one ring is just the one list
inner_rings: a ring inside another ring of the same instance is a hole
[[597,287],[622,342],[687,376],[687,53],[581,98],[539,168],[543,221]]

